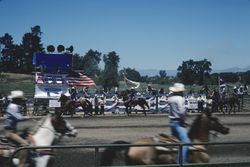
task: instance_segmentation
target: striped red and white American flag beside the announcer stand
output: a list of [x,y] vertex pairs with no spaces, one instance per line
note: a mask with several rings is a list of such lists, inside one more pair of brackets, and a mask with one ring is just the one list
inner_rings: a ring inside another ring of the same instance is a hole
[[86,75],[82,73],[74,73],[73,75],[68,75],[66,82],[70,86],[96,86],[95,82]]

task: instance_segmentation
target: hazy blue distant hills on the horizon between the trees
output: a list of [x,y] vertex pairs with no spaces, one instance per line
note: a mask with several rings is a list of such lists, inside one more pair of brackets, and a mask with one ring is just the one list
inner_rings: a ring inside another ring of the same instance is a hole
[[[213,70],[212,73],[223,73],[223,72],[246,72],[250,70],[250,66],[247,66],[245,68],[239,68],[239,67],[232,67],[232,68],[227,68],[227,69],[222,69],[222,70]],[[159,75],[158,69],[141,69],[138,70],[141,76],[156,76]],[[176,76],[177,70],[166,70],[167,76]]]

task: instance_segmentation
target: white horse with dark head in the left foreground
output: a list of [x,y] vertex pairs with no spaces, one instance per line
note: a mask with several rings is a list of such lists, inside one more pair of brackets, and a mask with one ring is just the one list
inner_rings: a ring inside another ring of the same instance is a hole
[[[51,146],[55,144],[57,139],[60,139],[63,135],[69,137],[76,137],[77,130],[67,121],[64,120],[61,115],[48,114],[37,124],[34,129],[33,135],[26,133],[26,139],[32,146]],[[14,162],[10,162],[9,158],[17,145],[11,141],[5,141],[1,143],[0,149],[0,164],[1,166],[34,166],[34,167],[47,167],[53,163],[53,152],[50,149],[42,150],[22,150],[18,153],[20,156],[14,158]]]

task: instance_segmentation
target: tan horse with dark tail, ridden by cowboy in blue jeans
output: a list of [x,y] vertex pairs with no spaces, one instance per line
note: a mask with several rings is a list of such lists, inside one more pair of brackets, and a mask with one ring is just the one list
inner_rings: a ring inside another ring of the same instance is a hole
[[[210,131],[228,134],[229,128],[222,125],[218,118],[212,116],[210,112],[204,112],[193,121],[188,136],[192,143],[189,147],[189,163],[207,163],[209,154],[205,145],[199,144],[209,141]],[[151,137],[144,137],[136,140],[133,144],[178,144],[179,140],[171,135],[157,134]],[[176,146],[126,146],[127,141],[116,141],[114,144],[124,144],[122,147],[108,147],[101,154],[101,166],[111,166],[115,160],[124,162],[125,165],[155,165],[155,164],[175,164],[177,163],[178,147]],[[117,161],[115,161],[117,162]]]

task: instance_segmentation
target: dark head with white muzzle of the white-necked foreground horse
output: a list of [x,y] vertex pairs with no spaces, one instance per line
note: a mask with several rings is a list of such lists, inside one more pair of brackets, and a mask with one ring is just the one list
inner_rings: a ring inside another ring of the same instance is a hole
[[70,137],[75,137],[77,135],[76,129],[67,120],[63,119],[60,111],[52,116],[51,123],[57,133]]

